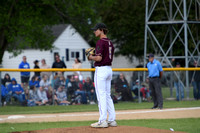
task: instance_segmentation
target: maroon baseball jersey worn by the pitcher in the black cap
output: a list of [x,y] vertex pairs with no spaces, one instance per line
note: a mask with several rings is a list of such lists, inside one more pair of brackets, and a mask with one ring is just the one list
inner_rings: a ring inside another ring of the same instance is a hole
[[111,66],[114,54],[114,47],[108,38],[102,38],[96,43],[96,55],[102,56],[101,61],[96,61],[94,66]]

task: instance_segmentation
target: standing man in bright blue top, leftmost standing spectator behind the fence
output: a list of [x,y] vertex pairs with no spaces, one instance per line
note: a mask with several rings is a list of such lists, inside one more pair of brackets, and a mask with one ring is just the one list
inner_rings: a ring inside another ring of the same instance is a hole
[[[23,56],[22,58],[23,61],[19,64],[19,69],[30,69],[30,65],[26,60],[26,56]],[[30,78],[30,72],[21,72],[22,87],[28,86],[29,78]]]

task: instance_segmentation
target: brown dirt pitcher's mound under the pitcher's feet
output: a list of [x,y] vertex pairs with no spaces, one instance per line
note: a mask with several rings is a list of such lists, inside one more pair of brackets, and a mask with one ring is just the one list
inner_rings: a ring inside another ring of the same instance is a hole
[[[89,126],[84,127],[70,127],[70,128],[50,128],[44,130],[35,131],[23,131],[13,133],[172,133],[169,130],[161,130],[147,127],[134,127],[134,126],[118,126],[108,128],[91,128]],[[176,132],[173,133],[184,133]]]

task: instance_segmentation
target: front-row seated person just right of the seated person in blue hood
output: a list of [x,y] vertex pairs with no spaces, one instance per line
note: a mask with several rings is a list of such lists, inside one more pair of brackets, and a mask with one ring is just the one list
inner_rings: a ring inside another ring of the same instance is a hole
[[30,86],[28,100],[27,100],[28,106],[36,106],[36,105],[42,105],[42,102],[39,101],[36,87]]

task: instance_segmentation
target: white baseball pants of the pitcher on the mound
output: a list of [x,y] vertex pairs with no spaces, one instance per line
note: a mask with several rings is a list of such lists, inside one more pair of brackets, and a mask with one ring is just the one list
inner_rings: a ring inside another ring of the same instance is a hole
[[96,67],[94,82],[99,106],[99,123],[107,119],[115,120],[115,108],[111,98],[112,68],[110,66]]

